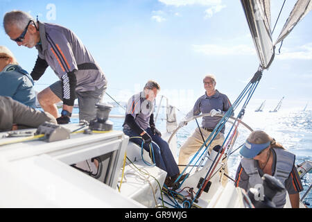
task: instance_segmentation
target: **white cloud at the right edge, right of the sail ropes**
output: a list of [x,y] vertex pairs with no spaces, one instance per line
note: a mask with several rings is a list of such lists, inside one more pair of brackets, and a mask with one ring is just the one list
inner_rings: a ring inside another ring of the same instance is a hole
[[[275,49],[275,53],[277,53],[277,49]],[[293,49],[281,47],[281,54],[276,55],[275,58],[280,60],[312,60],[312,42]]]

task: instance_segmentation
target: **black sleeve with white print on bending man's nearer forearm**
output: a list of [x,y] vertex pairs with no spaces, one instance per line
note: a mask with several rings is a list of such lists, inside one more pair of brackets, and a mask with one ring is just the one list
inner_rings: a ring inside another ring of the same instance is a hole
[[65,105],[73,106],[73,103],[76,99],[76,69],[69,72],[68,74],[64,74],[61,78],[62,80],[62,90],[63,90],[63,103]]

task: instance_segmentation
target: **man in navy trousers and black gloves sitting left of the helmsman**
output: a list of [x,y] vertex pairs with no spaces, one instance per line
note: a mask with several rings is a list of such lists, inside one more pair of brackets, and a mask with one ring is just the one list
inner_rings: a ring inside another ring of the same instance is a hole
[[[143,147],[149,153],[152,144],[153,153],[150,153],[150,157],[153,160],[154,156],[156,166],[167,172],[165,185],[172,187],[180,173],[168,143],[162,139],[162,134],[155,128],[153,112],[159,90],[159,84],[149,80],[142,92],[131,96],[125,113],[123,133],[129,137],[141,137],[141,139],[130,138],[130,141],[141,146],[143,140]],[[178,181],[184,178],[183,175]]]

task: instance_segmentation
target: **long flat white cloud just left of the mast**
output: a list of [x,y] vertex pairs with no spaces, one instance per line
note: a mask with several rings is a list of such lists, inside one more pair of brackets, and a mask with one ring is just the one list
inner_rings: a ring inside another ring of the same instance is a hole
[[244,44],[236,46],[220,46],[217,44],[193,44],[192,47],[194,51],[204,53],[209,56],[250,56],[256,54],[256,51],[253,47]]

